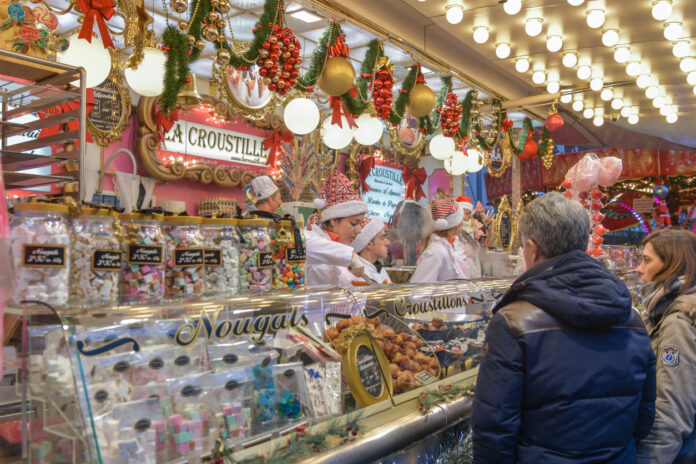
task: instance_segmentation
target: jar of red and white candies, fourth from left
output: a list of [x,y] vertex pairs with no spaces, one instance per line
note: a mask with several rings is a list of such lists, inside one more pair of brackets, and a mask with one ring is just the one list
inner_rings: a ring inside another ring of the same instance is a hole
[[201,218],[196,216],[164,218],[167,295],[203,294],[205,258],[201,222]]

